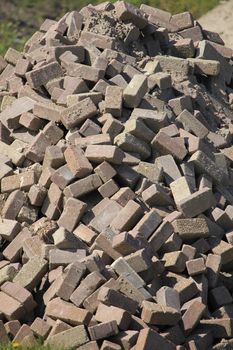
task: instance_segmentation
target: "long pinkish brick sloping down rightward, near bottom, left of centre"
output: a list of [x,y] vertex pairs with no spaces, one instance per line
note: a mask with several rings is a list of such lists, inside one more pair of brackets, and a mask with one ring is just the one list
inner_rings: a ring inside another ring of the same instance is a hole
[[78,308],[60,298],[55,298],[48,302],[45,314],[52,318],[67,322],[72,326],[78,326],[81,324],[88,325],[92,317],[89,311]]

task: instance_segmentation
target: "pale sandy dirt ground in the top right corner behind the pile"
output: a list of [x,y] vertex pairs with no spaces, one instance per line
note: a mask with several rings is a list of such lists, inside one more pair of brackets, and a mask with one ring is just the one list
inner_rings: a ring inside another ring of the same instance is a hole
[[226,46],[233,48],[233,0],[224,1],[198,21],[204,29],[219,33]]

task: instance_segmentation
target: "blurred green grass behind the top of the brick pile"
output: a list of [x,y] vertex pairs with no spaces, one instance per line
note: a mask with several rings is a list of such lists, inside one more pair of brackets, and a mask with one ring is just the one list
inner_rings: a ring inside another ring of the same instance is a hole
[[[103,0],[104,1],[104,0]],[[21,50],[26,40],[45,18],[57,19],[71,10],[79,10],[88,3],[101,0],[4,0],[0,1],[0,54],[9,47]],[[195,18],[214,8],[219,0],[144,0],[147,5],[159,7],[171,13],[190,11]],[[140,6],[142,1],[131,0]]]

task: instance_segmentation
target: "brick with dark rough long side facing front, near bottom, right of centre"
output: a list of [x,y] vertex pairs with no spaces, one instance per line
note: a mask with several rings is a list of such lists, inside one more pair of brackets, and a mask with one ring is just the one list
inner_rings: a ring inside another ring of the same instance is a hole
[[181,318],[180,312],[170,306],[158,305],[150,301],[142,302],[142,320],[158,326],[173,326]]

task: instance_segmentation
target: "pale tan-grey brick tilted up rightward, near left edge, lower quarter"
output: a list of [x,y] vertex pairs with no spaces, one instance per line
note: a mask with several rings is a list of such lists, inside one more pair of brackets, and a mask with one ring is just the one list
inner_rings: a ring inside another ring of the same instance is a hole
[[47,271],[47,261],[40,257],[31,258],[13,279],[22,287],[33,290]]

